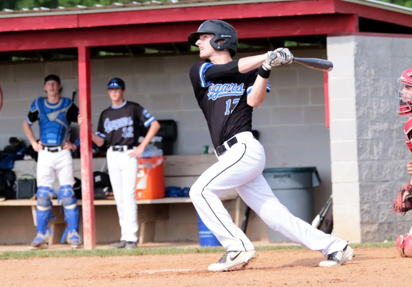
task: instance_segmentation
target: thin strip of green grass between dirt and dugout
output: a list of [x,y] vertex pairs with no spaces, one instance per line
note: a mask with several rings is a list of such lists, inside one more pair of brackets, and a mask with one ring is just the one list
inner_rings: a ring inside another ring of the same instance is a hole
[[[374,248],[374,247],[395,247],[395,242],[369,242],[360,244],[351,244],[354,248]],[[304,249],[297,245],[281,246],[258,246],[257,251],[268,250],[298,250]],[[32,250],[32,251],[4,251],[0,252],[0,260],[5,259],[28,259],[42,257],[76,257],[76,256],[136,256],[136,255],[166,255],[166,254],[185,254],[185,253],[222,253],[225,252],[223,247],[157,247],[157,248],[137,248],[132,250],[112,250],[112,249],[93,249],[93,250]]]

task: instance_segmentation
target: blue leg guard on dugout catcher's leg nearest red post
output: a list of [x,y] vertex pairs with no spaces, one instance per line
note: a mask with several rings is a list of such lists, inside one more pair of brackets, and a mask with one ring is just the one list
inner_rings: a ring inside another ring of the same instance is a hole
[[61,186],[59,199],[61,199],[61,204],[63,205],[64,221],[67,224],[61,243],[64,243],[67,237],[67,243],[73,248],[77,248],[81,244],[79,236],[79,207],[77,207],[77,199],[72,186]]

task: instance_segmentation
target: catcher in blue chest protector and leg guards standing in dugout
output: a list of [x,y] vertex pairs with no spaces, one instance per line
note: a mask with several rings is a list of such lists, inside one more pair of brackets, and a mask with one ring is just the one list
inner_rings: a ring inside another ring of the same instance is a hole
[[[48,247],[49,231],[47,227],[52,215],[52,190],[55,174],[59,179],[58,202],[64,209],[67,224],[61,243],[65,237],[67,243],[75,249],[80,247],[79,208],[73,191],[73,159],[70,150],[77,147],[68,140],[70,122],[77,122],[79,109],[72,100],[60,96],[62,86],[60,78],[48,75],[44,78],[46,97],[38,97],[30,106],[30,111],[23,121],[23,130],[31,146],[38,152],[37,158],[37,235],[29,249]],[[36,141],[31,125],[38,120],[40,141]]]

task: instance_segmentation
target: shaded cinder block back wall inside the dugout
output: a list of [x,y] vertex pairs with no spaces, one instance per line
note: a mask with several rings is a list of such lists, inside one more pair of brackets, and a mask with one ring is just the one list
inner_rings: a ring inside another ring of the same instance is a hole
[[[325,49],[292,49],[295,56],[326,57]],[[249,54],[240,53],[236,58]],[[193,95],[188,71],[199,61],[194,55],[142,56],[91,61],[93,129],[100,112],[110,105],[105,85],[112,77],[126,82],[126,99],[137,101],[157,119],[178,124],[175,154],[199,154],[212,146],[206,120]],[[1,113],[0,148],[10,136],[25,139],[21,123],[31,102],[43,96],[45,75],[61,77],[63,96],[77,90],[77,61],[0,64],[0,85],[5,94]],[[269,79],[272,92],[253,112],[253,128],[265,146],[266,167],[316,166],[322,179],[315,188],[314,212],[331,193],[329,131],[325,127],[323,73],[299,64],[275,68]],[[78,95],[75,100],[78,104]],[[77,125],[73,124],[74,129]],[[37,124],[33,125],[38,134]],[[260,220],[260,219],[259,219]]]

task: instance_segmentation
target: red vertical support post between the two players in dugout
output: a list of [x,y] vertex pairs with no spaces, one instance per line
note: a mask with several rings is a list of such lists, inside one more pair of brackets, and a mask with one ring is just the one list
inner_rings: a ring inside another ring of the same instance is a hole
[[96,247],[93,156],[91,152],[90,48],[77,47],[79,62],[80,161],[82,169],[82,216],[84,249]]

